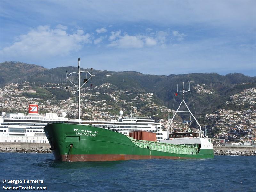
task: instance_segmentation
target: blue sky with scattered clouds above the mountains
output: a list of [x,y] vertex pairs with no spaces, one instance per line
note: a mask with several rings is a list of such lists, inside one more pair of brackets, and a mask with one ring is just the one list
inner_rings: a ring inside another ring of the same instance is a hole
[[0,1],[0,61],[256,76],[256,1]]

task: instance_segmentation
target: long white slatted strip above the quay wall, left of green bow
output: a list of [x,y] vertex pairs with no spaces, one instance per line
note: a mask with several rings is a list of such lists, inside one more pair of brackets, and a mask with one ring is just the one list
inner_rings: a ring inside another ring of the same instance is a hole
[[46,136],[12,136],[0,135],[0,142],[6,143],[49,143]]

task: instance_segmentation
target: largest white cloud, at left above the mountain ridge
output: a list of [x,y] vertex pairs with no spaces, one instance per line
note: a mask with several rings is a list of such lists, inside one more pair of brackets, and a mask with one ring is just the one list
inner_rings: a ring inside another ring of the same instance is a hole
[[58,25],[55,29],[39,26],[18,37],[11,46],[4,47],[1,55],[16,57],[43,57],[67,55],[80,50],[84,44],[92,43],[90,34],[79,29],[73,34],[66,32],[67,27]]

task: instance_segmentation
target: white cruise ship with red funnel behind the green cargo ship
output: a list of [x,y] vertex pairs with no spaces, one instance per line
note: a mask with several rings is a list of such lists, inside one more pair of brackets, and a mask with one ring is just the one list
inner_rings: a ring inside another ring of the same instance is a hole
[[[48,143],[44,133],[44,127],[48,123],[79,123],[78,119],[68,119],[65,116],[65,112],[62,112],[61,117],[56,113],[46,113],[45,116],[41,116],[38,113],[38,105],[35,103],[29,104],[28,115],[3,112],[0,116],[0,142]],[[162,137],[162,125],[160,123],[156,123],[150,116],[135,117],[132,113],[132,107],[130,116],[123,117],[123,111],[120,111],[117,120],[81,120],[80,123],[105,129],[115,129],[124,135],[129,135],[129,131],[138,130],[156,132],[157,140],[165,139]]]

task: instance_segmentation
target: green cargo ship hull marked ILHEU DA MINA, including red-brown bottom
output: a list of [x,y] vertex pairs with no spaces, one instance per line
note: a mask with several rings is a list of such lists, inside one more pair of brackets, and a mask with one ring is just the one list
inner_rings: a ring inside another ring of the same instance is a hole
[[[132,140],[121,133],[92,126],[53,123],[48,124],[44,128],[44,132],[55,159],[61,161],[214,157],[213,149],[198,150],[197,148],[180,145]],[[149,147],[146,147],[146,145],[149,145]],[[155,147],[155,150],[152,147]],[[164,152],[164,149],[168,152]]]

